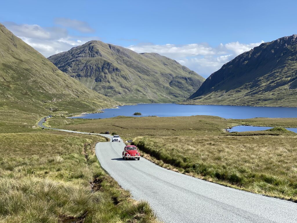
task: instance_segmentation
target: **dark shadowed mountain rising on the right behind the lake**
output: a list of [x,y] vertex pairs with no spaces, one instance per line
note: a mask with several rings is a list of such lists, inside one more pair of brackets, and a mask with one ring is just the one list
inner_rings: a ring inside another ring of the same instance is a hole
[[185,103],[297,107],[297,35],[240,54]]

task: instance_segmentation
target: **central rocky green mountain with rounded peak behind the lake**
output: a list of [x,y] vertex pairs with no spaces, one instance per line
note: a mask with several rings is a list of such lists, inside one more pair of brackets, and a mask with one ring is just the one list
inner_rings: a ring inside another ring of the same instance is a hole
[[168,57],[95,40],[48,59],[89,89],[122,102],[185,100],[205,80]]

